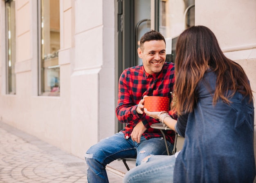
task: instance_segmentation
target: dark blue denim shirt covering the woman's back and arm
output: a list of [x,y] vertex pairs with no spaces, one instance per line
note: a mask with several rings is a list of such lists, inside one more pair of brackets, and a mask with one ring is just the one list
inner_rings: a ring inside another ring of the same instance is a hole
[[213,105],[215,85],[213,72],[206,72],[198,84],[197,102],[189,113],[184,146],[175,163],[174,182],[254,180],[253,101],[236,92],[230,104],[219,99]]

